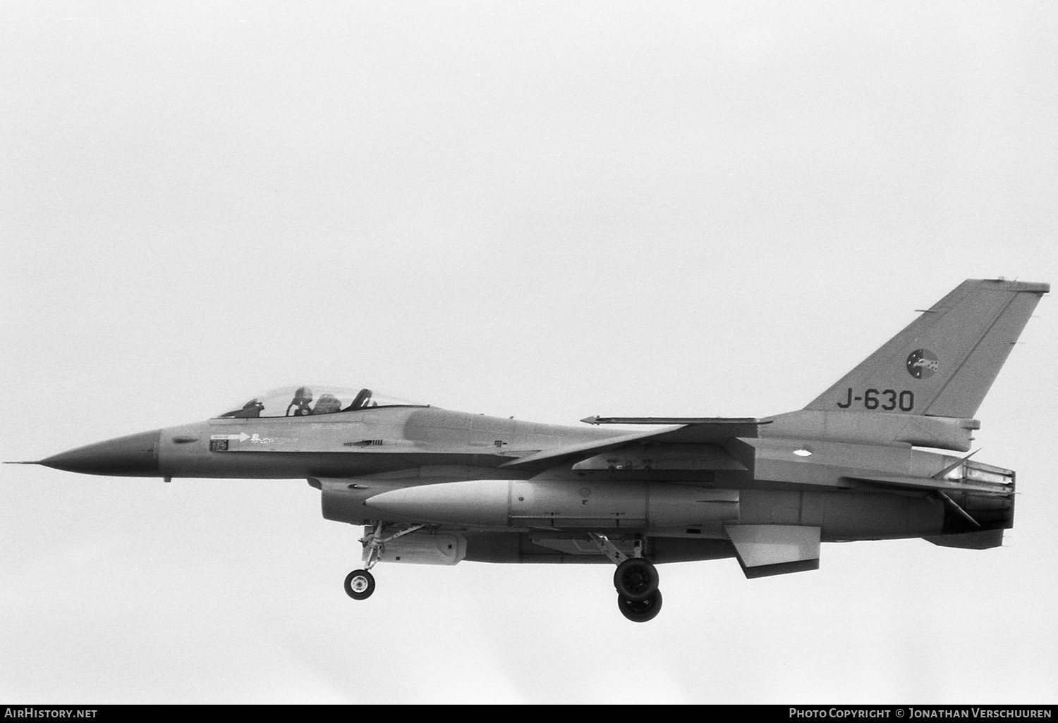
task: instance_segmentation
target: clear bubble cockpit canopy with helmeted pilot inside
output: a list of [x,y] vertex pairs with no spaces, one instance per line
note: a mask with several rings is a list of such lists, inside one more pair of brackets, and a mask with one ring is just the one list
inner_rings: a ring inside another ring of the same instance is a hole
[[215,419],[256,419],[261,416],[310,416],[373,409],[375,407],[423,407],[370,389],[347,389],[326,385],[282,387],[253,397],[241,407]]

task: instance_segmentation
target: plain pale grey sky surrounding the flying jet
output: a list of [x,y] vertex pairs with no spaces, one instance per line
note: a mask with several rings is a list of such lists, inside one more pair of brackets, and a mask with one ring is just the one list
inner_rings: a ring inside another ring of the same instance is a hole
[[[299,382],[577,424],[797,409],[1058,281],[1044,2],[0,5],[2,459]],[[300,481],[0,468],[7,702],[1054,702],[1055,301],[979,418],[1005,546],[379,566]]]

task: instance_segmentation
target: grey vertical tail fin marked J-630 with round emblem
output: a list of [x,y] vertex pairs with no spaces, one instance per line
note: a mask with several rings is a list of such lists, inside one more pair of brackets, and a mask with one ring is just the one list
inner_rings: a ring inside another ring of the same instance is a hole
[[969,279],[805,409],[970,419],[1051,285]]

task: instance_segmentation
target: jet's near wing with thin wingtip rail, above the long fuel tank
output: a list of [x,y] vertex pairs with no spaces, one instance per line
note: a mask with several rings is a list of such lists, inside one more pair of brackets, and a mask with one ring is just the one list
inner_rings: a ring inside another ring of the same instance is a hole
[[[591,424],[664,424],[665,422],[685,421],[680,418],[589,418]],[[574,463],[633,444],[700,444],[723,445],[734,437],[758,437],[758,428],[762,422],[752,418],[698,418],[688,420],[687,424],[654,429],[647,432],[632,432],[605,440],[569,444],[552,449],[519,457],[505,462],[500,467],[515,469],[543,469],[562,462]]]

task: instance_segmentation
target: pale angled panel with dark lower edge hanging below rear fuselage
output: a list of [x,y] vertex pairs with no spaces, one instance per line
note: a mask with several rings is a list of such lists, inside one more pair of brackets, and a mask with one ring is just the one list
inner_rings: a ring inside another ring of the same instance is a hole
[[725,530],[748,578],[819,570],[820,527],[737,524]]

